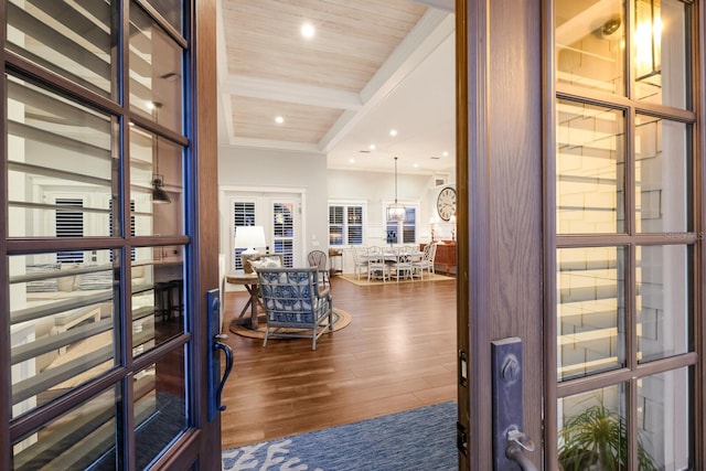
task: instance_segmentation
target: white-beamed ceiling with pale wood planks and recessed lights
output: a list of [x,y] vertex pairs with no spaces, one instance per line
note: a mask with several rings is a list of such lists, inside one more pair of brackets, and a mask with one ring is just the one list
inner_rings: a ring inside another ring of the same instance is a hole
[[221,0],[221,144],[322,153],[333,169],[393,171],[399,156],[400,172],[449,171],[452,4]]

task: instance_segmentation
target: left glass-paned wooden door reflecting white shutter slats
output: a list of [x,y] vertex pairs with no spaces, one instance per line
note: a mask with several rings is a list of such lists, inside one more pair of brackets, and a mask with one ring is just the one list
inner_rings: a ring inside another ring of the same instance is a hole
[[220,469],[203,3],[0,7],[0,469]]

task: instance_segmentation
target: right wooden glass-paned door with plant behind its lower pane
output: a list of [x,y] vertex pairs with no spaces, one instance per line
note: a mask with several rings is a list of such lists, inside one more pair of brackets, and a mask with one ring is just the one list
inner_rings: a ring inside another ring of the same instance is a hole
[[517,7],[457,2],[460,467],[703,469],[703,3]]

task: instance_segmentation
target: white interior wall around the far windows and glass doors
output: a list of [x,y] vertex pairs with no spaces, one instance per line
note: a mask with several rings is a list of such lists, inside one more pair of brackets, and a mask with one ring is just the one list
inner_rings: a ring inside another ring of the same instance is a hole
[[[429,242],[429,220],[438,215],[436,199],[441,188],[436,186],[435,176],[419,174],[397,174],[397,200],[403,204],[418,204],[419,217],[417,240]],[[447,181],[453,181],[453,175]],[[450,183],[452,184],[452,183]],[[220,188],[272,188],[304,190],[306,207],[303,239],[304,251],[313,248],[327,250],[329,246],[329,201],[351,201],[365,203],[367,207],[366,245],[385,244],[384,208],[395,200],[394,172],[364,172],[356,170],[327,170],[324,154],[243,149],[221,147],[218,153]],[[225,215],[221,215],[222,218]],[[227,220],[226,220],[227,221]],[[223,224],[223,221],[222,223]],[[437,238],[443,238],[437,225]],[[450,229],[448,237],[450,237]],[[313,237],[320,244],[313,246]],[[221,243],[221,250],[227,245]],[[346,264],[350,266],[350,264]],[[347,269],[349,266],[345,268]]]

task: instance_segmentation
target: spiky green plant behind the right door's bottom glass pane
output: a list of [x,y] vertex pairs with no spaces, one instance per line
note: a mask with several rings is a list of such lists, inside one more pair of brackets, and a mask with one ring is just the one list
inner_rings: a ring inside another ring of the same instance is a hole
[[[570,417],[559,431],[559,465],[564,471],[622,471],[628,469],[624,419],[602,400]],[[638,443],[638,469],[657,471],[654,459]]]

